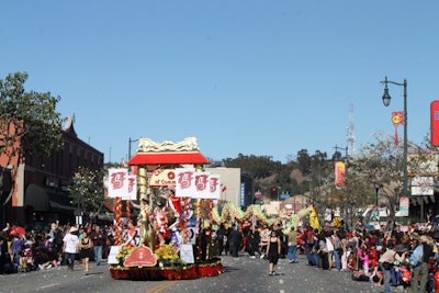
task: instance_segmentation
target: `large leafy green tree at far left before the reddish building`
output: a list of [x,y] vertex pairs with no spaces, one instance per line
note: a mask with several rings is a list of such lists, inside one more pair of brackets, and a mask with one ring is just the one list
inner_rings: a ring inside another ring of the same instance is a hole
[[[7,158],[1,168],[0,184],[4,174],[14,181],[18,167],[29,156],[50,156],[61,146],[61,120],[56,112],[59,97],[50,92],[25,91],[27,74],[15,72],[0,79],[0,155]],[[15,184],[2,203],[5,205]]]

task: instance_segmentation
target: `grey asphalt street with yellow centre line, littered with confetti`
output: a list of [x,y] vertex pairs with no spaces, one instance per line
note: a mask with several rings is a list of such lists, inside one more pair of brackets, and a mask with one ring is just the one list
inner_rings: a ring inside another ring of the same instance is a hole
[[[268,261],[251,259],[247,255],[238,258],[222,257],[225,272],[212,278],[183,281],[131,281],[111,278],[108,264],[90,264],[90,274],[85,275],[81,264],[75,271],[66,267],[45,271],[21,272],[0,275],[0,293],[5,292],[117,292],[117,293],[175,293],[175,292],[267,292],[267,293],[376,293],[369,282],[351,280],[348,272],[320,271],[306,266],[305,256],[299,263],[280,259],[275,275],[269,275]],[[393,289],[395,291],[395,289]]]

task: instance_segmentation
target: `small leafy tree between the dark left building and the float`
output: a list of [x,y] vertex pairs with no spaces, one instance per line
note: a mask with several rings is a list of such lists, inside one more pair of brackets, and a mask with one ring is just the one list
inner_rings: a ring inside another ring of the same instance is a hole
[[80,167],[74,174],[70,198],[82,213],[99,214],[104,206],[103,170],[90,170]]

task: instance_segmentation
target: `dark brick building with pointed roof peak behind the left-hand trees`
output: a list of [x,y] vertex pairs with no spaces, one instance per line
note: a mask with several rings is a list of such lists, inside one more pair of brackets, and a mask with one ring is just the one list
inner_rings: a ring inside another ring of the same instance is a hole
[[[63,146],[50,157],[26,157],[16,177],[3,178],[1,224],[35,226],[49,222],[75,223],[77,207],[71,204],[69,187],[79,167],[103,168],[103,153],[78,138],[74,119],[67,117],[61,128]],[[4,169],[7,158],[0,157]],[[7,172],[8,173],[8,172]],[[9,191],[14,187],[12,196]]]

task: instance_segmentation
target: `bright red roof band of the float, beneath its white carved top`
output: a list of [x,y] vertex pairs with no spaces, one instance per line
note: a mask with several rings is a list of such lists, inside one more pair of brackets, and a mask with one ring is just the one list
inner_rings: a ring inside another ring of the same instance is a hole
[[188,153],[137,153],[128,161],[130,166],[139,165],[184,165],[209,164],[209,160],[199,151]]

